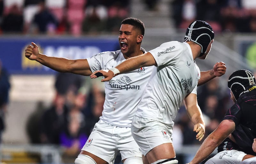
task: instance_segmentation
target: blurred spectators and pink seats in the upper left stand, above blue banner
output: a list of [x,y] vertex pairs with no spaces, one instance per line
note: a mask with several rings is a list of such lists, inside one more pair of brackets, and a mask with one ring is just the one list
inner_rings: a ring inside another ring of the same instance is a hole
[[116,32],[129,15],[129,4],[129,0],[0,0],[1,33]]

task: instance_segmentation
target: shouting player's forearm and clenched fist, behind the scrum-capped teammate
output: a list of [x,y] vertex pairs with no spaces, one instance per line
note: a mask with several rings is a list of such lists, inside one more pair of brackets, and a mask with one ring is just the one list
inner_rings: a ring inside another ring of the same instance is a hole
[[213,69],[208,70],[208,71],[202,71],[201,72],[201,78],[198,81],[197,86],[203,85],[204,83],[212,80],[213,78],[217,76],[222,76],[226,72],[226,65],[224,62],[217,62],[214,66]]

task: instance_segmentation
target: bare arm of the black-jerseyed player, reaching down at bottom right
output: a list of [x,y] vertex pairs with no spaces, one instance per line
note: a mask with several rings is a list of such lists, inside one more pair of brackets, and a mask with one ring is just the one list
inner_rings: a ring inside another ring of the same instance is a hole
[[205,160],[220,143],[235,130],[235,123],[232,120],[223,120],[215,131],[213,131],[200,146],[195,157],[189,164],[198,164]]

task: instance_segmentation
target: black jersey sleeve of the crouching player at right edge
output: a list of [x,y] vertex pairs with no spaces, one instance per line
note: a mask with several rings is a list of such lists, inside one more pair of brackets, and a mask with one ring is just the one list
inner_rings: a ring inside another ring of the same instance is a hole
[[225,114],[225,119],[231,119],[235,122],[236,126],[240,124],[240,118],[242,115],[241,108],[238,103],[235,103]]

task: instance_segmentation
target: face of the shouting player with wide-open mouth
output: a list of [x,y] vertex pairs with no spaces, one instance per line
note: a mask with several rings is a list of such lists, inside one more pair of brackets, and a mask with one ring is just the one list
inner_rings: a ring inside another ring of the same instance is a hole
[[121,52],[127,56],[133,53],[136,49],[139,30],[133,25],[122,24],[119,30],[119,44]]

